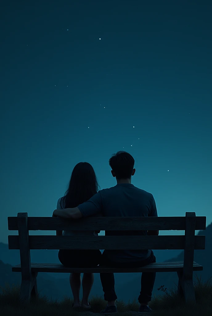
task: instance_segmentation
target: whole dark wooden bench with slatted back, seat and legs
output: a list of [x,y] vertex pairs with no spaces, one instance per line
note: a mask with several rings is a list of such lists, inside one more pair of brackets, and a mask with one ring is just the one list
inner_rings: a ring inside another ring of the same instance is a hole
[[[186,216],[171,217],[88,217],[67,220],[60,217],[28,217],[18,213],[8,217],[8,229],[18,235],[8,236],[9,249],[20,249],[21,264],[12,271],[21,272],[20,299],[30,302],[37,297],[38,272],[167,272],[176,271],[179,277],[178,294],[185,301],[195,302],[193,271],[203,266],[193,261],[194,249],[205,249],[205,236],[195,230],[206,229],[206,217],[186,212]],[[56,236],[29,235],[29,230],[184,230],[185,235],[159,236]],[[30,249],[184,249],[184,261],[156,262],[140,268],[67,268],[62,264],[31,263]]]

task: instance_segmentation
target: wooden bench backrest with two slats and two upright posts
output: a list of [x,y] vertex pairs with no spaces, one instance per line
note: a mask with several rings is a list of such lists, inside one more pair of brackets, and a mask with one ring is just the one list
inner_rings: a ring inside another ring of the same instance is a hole
[[[88,217],[67,220],[60,217],[8,217],[9,249],[20,249],[21,266],[31,271],[30,249],[184,249],[184,273],[193,270],[194,249],[205,249],[206,216],[186,212],[170,217]],[[184,235],[159,236],[56,236],[29,235],[29,230],[185,230]],[[23,269],[22,269],[23,270]]]

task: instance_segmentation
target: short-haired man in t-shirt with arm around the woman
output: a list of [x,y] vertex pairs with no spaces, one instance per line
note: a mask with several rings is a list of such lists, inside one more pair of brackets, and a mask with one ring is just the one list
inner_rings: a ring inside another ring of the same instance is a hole
[[[131,176],[135,174],[133,157],[118,151],[109,159],[111,173],[116,178],[117,185],[98,191],[87,202],[75,208],[54,210],[53,216],[78,219],[95,216],[102,213],[106,217],[140,217],[158,216],[153,195],[141,190],[131,183]],[[105,231],[106,236],[146,236],[158,235],[159,231]],[[152,250],[104,250],[102,262],[99,265],[110,267],[141,267],[156,262]],[[139,312],[151,312],[148,306],[151,301],[156,273],[143,272],[141,276],[141,292],[138,297]],[[117,313],[115,300],[115,279],[113,273],[100,273],[104,299],[108,304],[101,313]]]

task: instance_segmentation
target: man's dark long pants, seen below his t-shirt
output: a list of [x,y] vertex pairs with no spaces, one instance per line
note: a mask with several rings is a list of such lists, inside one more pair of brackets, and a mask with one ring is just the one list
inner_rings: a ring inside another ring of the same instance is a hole
[[[156,257],[151,250],[150,257],[139,262],[133,263],[115,263],[109,261],[104,252],[102,254],[101,262],[99,266],[108,266],[111,268],[138,268],[149,263],[156,262]],[[146,303],[151,301],[152,290],[155,283],[156,272],[142,272],[141,276],[141,291],[138,297],[139,303]],[[102,282],[104,300],[115,301],[117,296],[115,294],[115,278],[114,273],[100,273],[100,279]]]

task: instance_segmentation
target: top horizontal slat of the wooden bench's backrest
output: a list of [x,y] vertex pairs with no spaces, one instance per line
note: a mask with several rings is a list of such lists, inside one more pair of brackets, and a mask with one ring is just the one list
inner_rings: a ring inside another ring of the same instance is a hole
[[[8,229],[18,230],[17,217],[8,217]],[[28,217],[29,230],[185,230],[185,216],[87,217],[67,220],[60,217]],[[196,230],[206,229],[206,216],[196,217]]]

